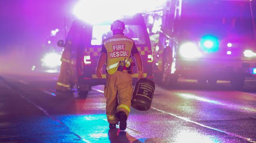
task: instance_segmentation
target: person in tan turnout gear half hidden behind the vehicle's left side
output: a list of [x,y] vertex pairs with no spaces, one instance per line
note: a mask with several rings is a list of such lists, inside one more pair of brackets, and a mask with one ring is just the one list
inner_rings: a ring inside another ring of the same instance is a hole
[[60,76],[55,86],[56,91],[59,91],[59,92],[71,91],[71,88],[69,85],[69,81],[71,78],[70,45],[71,45],[71,42],[68,42],[67,46],[65,46],[65,49],[62,53],[62,57],[60,59],[62,61],[62,64],[60,66]]

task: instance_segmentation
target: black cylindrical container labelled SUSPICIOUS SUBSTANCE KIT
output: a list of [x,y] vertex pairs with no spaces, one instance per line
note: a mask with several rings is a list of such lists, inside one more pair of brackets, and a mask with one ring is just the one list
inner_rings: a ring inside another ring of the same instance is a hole
[[133,91],[132,107],[141,111],[149,110],[154,91],[155,83],[153,81],[146,78],[138,80]]

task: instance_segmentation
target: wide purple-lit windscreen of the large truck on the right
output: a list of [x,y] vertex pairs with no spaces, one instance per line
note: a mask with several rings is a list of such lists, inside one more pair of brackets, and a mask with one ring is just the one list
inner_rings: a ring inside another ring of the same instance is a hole
[[183,0],[179,28],[194,36],[254,37],[249,1]]

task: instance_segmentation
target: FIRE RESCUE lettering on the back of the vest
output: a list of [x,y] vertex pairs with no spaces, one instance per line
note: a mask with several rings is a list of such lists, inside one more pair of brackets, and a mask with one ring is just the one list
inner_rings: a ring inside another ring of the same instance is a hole
[[129,51],[125,51],[125,44],[113,45],[113,51],[109,53],[110,58],[129,56]]

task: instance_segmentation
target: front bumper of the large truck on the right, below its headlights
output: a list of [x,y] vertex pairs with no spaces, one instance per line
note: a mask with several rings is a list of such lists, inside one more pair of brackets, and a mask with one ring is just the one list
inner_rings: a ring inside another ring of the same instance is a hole
[[176,74],[199,78],[215,77],[222,80],[234,75],[252,76],[256,74],[255,60],[176,60]]

